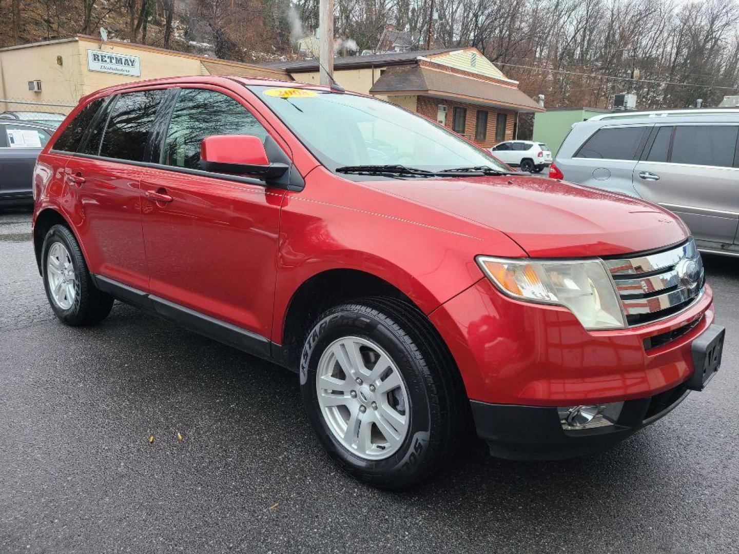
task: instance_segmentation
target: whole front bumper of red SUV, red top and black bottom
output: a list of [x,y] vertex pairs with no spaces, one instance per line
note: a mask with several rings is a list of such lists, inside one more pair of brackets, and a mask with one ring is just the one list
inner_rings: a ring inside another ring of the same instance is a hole
[[[569,310],[507,298],[483,279],[430,317],[491,454],[557,459],[607,448],[675,408],[691,386],[692,343],[712,325],[714,308],[706,285],[670,318],[587,331]],[[565,430],[557,411],[621,402],[613,425],[596,428]]]

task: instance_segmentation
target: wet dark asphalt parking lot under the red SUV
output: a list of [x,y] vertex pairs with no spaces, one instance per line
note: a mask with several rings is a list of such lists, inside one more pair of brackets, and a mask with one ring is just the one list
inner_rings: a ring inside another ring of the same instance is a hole
[[123,304],[59,324],[29,219],[0,211],[0,553],[738,552],[739,259],[704,257],[723,366],[669,417],[565,462],[473,442],[385,493],[336,471],[296,375]]

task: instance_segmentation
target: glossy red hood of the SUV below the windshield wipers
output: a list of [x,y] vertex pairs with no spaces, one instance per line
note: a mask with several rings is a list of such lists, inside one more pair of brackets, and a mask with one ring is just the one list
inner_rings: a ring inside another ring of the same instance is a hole
[[687,238],[672,213],[630,196],[545,177],[369,181],[387,194],[502,231],[532,257],[611,256]]

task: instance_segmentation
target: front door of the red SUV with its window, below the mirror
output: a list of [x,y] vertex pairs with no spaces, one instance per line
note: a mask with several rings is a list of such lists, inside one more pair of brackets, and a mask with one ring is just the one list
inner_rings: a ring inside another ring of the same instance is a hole
[[200,171],[200,143],[215,134],[268,131],[224,92],[180,91],[158,163],[142,170],[151,294],[268,337],[285,191]]

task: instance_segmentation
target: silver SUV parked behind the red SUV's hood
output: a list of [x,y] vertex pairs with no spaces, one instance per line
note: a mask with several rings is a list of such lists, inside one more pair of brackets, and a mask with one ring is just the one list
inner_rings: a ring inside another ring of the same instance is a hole
[[676,213],[701,250],[739,256],[739,109],[602,114],[575,123],[550,177]]

